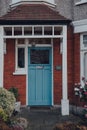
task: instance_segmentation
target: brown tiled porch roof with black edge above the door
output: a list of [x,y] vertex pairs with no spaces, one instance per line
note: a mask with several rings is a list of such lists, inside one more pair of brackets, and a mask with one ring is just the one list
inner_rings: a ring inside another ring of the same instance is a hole
[[26,4],[11,8],[0,18],[1,25],[67,24],[70,20],[45,4]]

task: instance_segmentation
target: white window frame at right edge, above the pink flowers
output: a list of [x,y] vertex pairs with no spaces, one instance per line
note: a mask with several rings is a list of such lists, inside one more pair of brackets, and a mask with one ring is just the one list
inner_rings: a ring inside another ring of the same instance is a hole
[[87,35],[87,33],[80,35],[80,70],[81,70],[80,79],[81,79],[82,84],[83,84],[82,77],[85,77],[85,73],[84,73],[84,54],[87,53],[87,47],[84,47],[84,44],[83,44],[83,36],[84,35]]

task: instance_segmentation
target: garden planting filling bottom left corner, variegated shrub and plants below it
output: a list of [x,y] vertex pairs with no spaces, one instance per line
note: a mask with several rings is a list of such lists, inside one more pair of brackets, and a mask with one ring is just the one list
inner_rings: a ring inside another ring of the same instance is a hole
[[0,130],[24,130],[17,119],[13,118],[15,102],[12,92],[0,88]]

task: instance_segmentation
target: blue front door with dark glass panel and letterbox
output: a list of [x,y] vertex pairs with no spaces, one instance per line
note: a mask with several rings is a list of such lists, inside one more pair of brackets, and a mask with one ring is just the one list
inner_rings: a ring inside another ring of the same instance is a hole
[[28,104],[52,105],[51,48],[28,48]]

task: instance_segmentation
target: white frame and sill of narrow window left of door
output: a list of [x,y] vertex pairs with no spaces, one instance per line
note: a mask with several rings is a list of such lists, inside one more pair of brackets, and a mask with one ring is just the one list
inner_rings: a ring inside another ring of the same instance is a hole
[[[24,68],[18,68],[18,48],[24,48],[24,59],[25,65]],[[18,44],[18,39],[15,40],[15,72],[13,75],[25,75],[26,74],[26,44],[24,40],[24,44]]]

